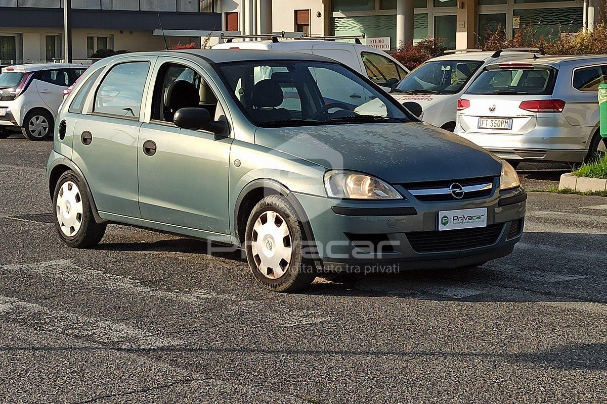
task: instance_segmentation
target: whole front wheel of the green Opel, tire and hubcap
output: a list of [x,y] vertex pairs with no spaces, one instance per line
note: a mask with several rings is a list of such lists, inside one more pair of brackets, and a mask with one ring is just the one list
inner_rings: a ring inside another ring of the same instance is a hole
[[249,216],[245,240],[249,267],[267,290],[302,290],[316,277],[313,263],[303,257],[302,227],[287,198],[260,200]]

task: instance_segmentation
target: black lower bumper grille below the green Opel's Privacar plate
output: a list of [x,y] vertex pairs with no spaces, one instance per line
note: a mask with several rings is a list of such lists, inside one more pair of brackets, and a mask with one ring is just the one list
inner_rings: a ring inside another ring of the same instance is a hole
[[487,247],[497,242],[503,228],[504,224],[498,223],[461,230],[415,231],[406,235],[416,253],[436,253]]

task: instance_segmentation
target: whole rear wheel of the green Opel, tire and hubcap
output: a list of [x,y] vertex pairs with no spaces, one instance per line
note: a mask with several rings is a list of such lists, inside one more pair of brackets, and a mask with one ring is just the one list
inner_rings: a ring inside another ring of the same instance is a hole
[[95,222],[86,185],[72,170],[59,177],[53,207],[57,233],[70,247],[87,248],[103,238],[106,225]]

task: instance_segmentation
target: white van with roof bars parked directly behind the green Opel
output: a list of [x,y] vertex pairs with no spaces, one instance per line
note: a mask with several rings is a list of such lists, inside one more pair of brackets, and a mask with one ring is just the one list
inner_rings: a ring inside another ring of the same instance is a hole
[[[385,91],[401,81],[409,70],[399,61],[384,51],[371,48],[367,45],[352,42],[323,41],[321,39],[287,39],[283,41],[243,41],[227,42],[217,44],[213,49],[260,49],[279,50],[291,52],[304,52],[313,55],[325,56],[341,62],[350,68],[368,77]],[[317,80],[322,78],[317,78]],[[351,81],[334,77],[331,81],[319,81],[321,88],[327,88],[333,94],[339,94],[339,99],[352,99],[353,104],[360,105],[361,99],[367,94],[362,94],[359,88],[353,87]],[[365,100],[368,101],[368,100]]]

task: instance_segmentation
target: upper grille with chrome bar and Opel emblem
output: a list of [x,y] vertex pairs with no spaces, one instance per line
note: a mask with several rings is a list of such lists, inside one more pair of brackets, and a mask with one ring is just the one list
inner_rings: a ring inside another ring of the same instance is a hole
[[[462,187],[475,187],[490,184],[491,186],[478,191],[467,191],[462,198],[456,198],[449,192],[452,184],[459,184]],[[407,191],[413,194],[416,199],[422,202],[444,202],[449,200],[467,200],[490,196],[493,192],[493,177],[477,177],[459,180],[441,180],[433,182],[412,182],[401,184]]]

